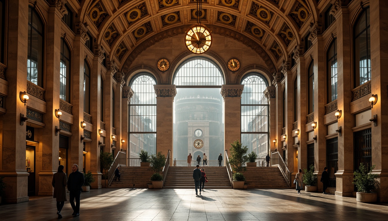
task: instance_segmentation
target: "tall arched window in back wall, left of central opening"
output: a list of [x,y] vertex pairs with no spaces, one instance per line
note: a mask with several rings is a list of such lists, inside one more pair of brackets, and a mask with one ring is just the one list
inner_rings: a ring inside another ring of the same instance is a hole
[[[156,94],[155,79],[140,73],[133,77],[130,86],[133,96],[129,111],[129,158],[139,158],[141,150],[156,154]],[[130,166],[134,165],[130,161]]]

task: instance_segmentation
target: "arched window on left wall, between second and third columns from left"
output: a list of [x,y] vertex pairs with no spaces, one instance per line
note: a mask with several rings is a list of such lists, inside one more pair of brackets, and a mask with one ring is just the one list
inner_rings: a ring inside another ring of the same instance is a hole
[[61,67],[59,71],[59,98],[70,103],[70,50],[61,38]]

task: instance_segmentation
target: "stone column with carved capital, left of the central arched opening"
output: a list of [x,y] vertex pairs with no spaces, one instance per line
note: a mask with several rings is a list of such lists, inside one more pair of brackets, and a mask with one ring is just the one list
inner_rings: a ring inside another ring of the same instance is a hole
[[177,95],[175,85],[155,84],[156,94],[156,152],[167,156],[170,151],[170,165],[173,156],[173,102]]

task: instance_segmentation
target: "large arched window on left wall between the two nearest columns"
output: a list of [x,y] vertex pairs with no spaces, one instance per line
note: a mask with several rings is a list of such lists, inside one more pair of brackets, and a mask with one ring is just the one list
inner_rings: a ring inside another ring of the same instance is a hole
[[43,86],[43,22],[35,9],[28,8],[27,80]]

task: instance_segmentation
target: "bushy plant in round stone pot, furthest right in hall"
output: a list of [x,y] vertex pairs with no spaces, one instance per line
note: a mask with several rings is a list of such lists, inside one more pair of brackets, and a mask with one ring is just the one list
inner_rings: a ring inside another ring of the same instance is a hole
[[376,202],[377,193],[372,190],[379,187],[379,181],[376,179],[377,174],[372,173],[374,167],[371,166],[369,172],[365,168],[364,163],[360,163],[359,170],[354,171],[353,184],[357,187],[356,200],[358,202]]

